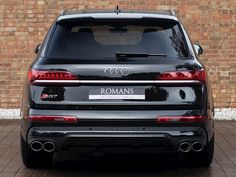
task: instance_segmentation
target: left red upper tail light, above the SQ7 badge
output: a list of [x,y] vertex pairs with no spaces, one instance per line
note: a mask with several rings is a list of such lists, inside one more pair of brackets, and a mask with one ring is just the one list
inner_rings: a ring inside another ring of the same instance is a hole
[[77,77],[66,71],[41,71],[31,69],[28,72],[28,80],[34,82],[35,80],[75,80]]

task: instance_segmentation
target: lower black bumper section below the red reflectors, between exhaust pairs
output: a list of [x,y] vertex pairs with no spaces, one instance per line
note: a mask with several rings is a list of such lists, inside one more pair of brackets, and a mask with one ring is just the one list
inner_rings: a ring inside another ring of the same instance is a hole
[[27,142],[55,143],[56,150],[178,151],[181,142],[207,143],[199,127],[32,127]]

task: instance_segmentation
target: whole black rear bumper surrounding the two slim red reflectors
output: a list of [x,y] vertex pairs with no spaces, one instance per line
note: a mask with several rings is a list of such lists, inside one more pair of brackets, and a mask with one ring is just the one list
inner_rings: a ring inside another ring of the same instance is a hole
[[[181,142],[206,145],[213,135],[213,119],[198,123],[161,123],[157,115],[185,115],[173,111],[30,110],[30,115],[75,115],[78,123],[28,122],[21,135],[28,144],[53,142],[57,150],[78,152],[177,152]],[[195,111],[196,112],[196,111]]]

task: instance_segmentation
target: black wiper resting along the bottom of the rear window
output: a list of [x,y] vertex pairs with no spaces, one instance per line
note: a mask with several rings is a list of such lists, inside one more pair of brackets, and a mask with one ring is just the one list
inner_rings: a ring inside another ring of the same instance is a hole
[[117,60],[126,60],[129,58],[145,58],[145,57],[150,57],[150,56],[166,57],[166,54],[116,52]]

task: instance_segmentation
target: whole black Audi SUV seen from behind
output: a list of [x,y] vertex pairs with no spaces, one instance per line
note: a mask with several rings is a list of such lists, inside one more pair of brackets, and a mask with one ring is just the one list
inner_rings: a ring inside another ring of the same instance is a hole
[[63,11],[35,52],[21,107],[27,167],[50,164],[60,150],[177,152],[211,164],[203,50],[174,11]]

